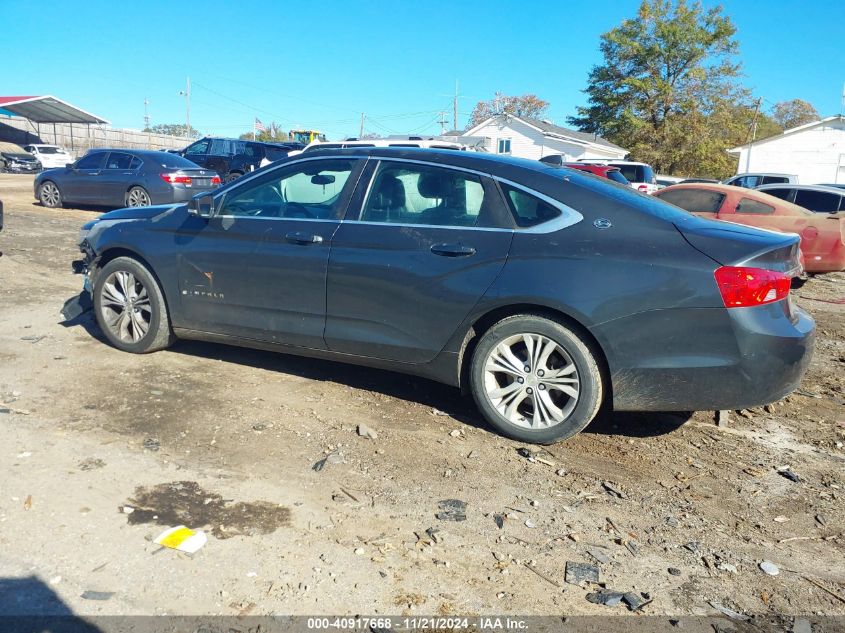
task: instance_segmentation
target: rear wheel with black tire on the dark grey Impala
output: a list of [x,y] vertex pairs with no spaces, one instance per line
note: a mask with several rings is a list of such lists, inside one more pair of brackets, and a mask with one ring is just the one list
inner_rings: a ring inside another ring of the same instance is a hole
[[484,418],[503,435],[551,444],[580,432],[598,413],[604,390],[596,357],[581,336],[557,321],[510,316],[479,340],[470,389]]

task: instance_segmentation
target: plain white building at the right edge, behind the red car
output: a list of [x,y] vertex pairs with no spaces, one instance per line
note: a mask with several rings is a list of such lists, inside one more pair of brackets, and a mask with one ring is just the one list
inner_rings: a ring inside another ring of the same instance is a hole
[[845,117],[829,116],[729,149],[737,173],[795,174],[803,184],[845,183]]

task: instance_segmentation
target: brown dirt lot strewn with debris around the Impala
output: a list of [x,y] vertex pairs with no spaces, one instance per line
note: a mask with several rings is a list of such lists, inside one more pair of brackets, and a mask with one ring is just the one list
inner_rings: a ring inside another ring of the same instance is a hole
[[[425,380],[119,352],[59,313],[99,212],[37,206],[27,176],[0,199],[0,613],[628,613],[566,583],[573,561],[644,614],[845,614],[845,274],[797,292],[819,339],[785,400],[727,427],[606,415],[535,459]],[[435,518],[443,499],[466,520]],[[193,557],[151,542],[180,523],[209,534]]]

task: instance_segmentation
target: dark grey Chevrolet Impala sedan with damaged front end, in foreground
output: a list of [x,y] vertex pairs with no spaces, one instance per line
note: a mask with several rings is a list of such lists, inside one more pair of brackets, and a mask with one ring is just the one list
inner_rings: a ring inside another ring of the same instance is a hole
[[815,334],[789,297],[797,235],[473,152],[301,154],[81,236],[97,321],[122,350],[180,337],[425,376],[528,442],[577,433],[603,402],[777,400]]

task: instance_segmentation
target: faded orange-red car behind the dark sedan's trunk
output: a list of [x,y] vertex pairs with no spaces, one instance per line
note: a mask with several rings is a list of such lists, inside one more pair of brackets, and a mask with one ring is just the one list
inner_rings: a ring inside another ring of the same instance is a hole
[[801,236],[804,269],[845,270],[845,212],[813,213],[762,191],[730,185],[672,185],[654,194],[664,202],[705,218],[747,224]]

